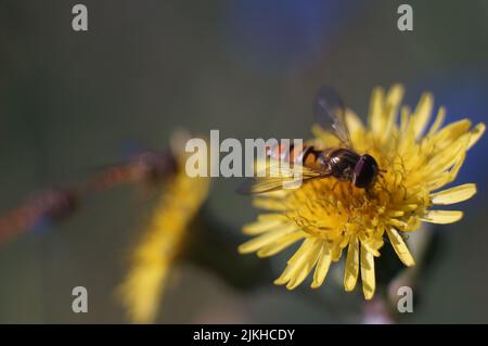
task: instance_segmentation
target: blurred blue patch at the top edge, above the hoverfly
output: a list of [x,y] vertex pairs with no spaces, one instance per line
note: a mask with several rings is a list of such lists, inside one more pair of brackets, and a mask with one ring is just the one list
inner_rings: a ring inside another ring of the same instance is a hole
[[346,14],[359,5],[332,0],[228,2],[227,47],[246,67],[280,75],[324,54]]

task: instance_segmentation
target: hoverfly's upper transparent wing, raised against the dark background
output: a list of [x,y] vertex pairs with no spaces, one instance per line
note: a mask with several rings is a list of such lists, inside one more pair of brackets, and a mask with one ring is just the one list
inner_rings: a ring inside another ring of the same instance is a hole
[[337,92],[330,87],[321,87],[313,101],[316,121],[326,131],[335,134],[346,148],[352,148],[346,121],[346,107]]

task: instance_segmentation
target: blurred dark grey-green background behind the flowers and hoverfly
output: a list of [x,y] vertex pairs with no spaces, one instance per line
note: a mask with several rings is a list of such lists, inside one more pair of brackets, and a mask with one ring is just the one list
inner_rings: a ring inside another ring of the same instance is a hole
[[[0,0],[1,210],[121,161],[127,143],[165,149],[177,128],[308,138],[322,84],[361,116],[374,86],[399,81],[410,104],[429,90],[449,120],[486,121],[487,1],[409,0],[412,33],[397,29],[403,1],[80,2],[88,33],[70,27],[76,1]],[[441,246],[408,322],[488,322],[486,150],[483,139],[468,153],[458,181],[479,192],[462,221],[436,230]],[[196,243],[216,258],[176,266],[157,322],[360,321],[360,293],[288,292],[272,284],[285,256],[235,254],[256,215],[239,183],[214,180]],[[0,322],[127,322],[113,290],[150,213],[136,187],[120,188],[1,244]],[[88,313],[72,311],[77,285]]]

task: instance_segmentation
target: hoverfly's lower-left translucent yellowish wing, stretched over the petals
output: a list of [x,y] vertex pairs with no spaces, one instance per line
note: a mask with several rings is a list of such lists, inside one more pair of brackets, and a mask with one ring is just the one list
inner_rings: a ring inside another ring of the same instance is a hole
[[241,194],[259,194],[284,189],[297,189],[311,179],[331,176],[329,171],[318,171],[294,165],[293,167],[270,166],[260,171],[258,177],[247,178],[237,189]]

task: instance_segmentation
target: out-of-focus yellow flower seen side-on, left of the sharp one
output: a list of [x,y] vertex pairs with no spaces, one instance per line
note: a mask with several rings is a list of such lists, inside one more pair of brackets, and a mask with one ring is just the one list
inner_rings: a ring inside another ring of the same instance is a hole
[[133,323],[151,323],[156,318],[160,296],[189,231],[188,226],[207,196],[209,180],[188,177],[185,155],[179,153],[177,156],[177,174],[166,182],[132,255],[131,268],[118,287],[119,298]]

